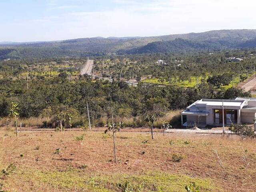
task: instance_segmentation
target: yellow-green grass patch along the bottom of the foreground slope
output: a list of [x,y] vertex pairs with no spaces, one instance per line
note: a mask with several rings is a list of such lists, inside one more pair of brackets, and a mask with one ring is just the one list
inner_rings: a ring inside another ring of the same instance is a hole
[[[220,191],[210,180],[190,178],[166,172],[146,172],[145,174],[88,175],[76,169],[64,172],[22,172],[22,177],[34,177],[40,185],[45,183],[59,189],[80,189],[94,192],[186,192],[185,187],[192,182],[200,192]],[[31,174],[31,175],[30,175]]]

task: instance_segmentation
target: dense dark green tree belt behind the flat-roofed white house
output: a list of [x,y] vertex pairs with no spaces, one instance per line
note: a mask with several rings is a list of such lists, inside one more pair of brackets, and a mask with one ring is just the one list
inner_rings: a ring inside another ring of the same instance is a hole
[[155,113],[158,116],[167,110],[185,108],[201,98],[236,98],[250,96],[240,89],[230,88],[216,91],[207,83],[197,89],[177,86],[158,87],[140,83],[137,87],[128,86],[125,82],[92,81],[80,77],[69,82],[66,76],[37,79],[26,86],[26,80],[0,80],[0,116],[8,116],[10,103],[18,102],[20,117],[52,116],[70,108],[79,114],[86,113],[86,102],[90,105],[92,118],[109,115],[112,106],[117,116],[142,116]]

